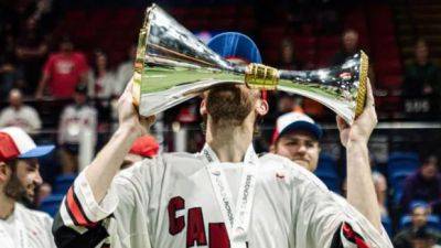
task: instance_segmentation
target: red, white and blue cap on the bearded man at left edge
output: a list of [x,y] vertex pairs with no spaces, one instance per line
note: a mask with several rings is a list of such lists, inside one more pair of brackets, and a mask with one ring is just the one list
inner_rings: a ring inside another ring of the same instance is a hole
[[33,159],[43,157],[52,150],[54,145],[36,145],[32,138],[18,127],[0,129],[0,161],[4,162],[13,159]]

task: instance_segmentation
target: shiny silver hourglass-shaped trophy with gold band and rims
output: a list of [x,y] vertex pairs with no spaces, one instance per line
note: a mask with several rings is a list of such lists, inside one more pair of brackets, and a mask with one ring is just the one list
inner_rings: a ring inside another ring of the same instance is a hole
[[151,116],[218,84],[246,84],[316,100],[353,123],[365,104],[368,57],[359,52],[341,66],[279,71],[261,64],[235,65],[153,4],[139,34],[133,96],[141,116]]

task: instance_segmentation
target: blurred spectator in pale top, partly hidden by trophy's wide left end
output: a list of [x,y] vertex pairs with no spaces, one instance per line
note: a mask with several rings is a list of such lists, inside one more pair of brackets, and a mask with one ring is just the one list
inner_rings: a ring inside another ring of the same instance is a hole
[[137,45],[133,44],[128,51],[128,60],[118,65],[116,71],[116,85],[114,94],[120,96],[126,88],[127,82],[133,76],[133,64],[137,57]]

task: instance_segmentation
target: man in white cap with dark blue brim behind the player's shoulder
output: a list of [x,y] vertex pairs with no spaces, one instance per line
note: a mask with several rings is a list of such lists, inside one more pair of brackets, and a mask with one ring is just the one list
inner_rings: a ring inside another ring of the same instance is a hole
[[271,152],[314,172],[322,136],[322,128],[311,117],[302,112],[288,112],[277,119]]

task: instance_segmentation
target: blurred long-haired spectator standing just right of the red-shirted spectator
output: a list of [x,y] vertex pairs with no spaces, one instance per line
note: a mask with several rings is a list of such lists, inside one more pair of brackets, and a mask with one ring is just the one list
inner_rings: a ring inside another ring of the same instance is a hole
[[115,74],[108,68],[108,57],[105,52],[95,52],[93,69],[88,75],[88,95],[94,98],[107,99],[114,95],[116,86]]

